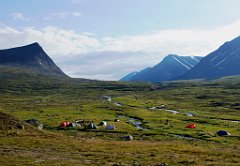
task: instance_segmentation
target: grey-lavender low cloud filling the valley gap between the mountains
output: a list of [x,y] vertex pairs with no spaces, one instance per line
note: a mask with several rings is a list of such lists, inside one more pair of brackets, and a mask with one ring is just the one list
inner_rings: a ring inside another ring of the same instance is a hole
[[[142,70],[159,60],[158,54],[141,52],[93,52],[67,60],[59,65],[72,77],[118,80],[129,71]],[[136,58],[137,57],[137,58]]]

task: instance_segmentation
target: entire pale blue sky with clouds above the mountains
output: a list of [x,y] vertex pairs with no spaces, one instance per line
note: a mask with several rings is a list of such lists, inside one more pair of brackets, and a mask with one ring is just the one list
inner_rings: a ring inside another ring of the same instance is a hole
[[0,0],[0,49],[38,42],[69,76],[119,80],[240,35],[240,0]]

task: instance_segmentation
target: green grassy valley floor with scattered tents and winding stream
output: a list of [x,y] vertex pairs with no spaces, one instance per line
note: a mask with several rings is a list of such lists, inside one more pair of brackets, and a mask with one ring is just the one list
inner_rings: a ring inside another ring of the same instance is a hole
[[[2,79],[0,111],[25,129],[1,130],[0,165],[238,165],[237,82]],[[25,124],[28,119],[43,129]]]

